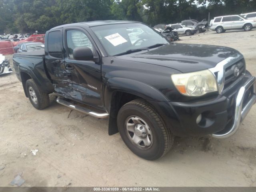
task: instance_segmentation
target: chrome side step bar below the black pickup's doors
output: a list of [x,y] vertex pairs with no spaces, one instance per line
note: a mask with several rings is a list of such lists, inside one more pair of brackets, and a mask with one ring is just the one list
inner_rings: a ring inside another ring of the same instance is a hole
[[84,108],[82,106],[79,106],[79,105],[75,105],[71,102],[68,102],[60,97],[58,97],[56,99],[56,102],[59,103],[59,104],[62,104],[66,107],[69,107],[69,108],[72,108],[74,110],[77,110],[79,112],[82,112],[82,113],[85,113],[85,114],[88,114],[90,116],[94,116],[96,118],[107,118],[109,116],[108,113],[99,113],[99,112],[94,112],[92,111],[91,109],[88,109],[88,108]]

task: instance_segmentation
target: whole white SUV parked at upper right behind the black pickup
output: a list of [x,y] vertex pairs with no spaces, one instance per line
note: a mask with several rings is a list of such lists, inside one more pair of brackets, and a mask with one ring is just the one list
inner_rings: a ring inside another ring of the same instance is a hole
[[223,33],[226,30],[232,29],[250,31],[254,27],[256,27],[256,20],[247,19],[241,15],[219,16],[210,22],[210,29],[217,33]]

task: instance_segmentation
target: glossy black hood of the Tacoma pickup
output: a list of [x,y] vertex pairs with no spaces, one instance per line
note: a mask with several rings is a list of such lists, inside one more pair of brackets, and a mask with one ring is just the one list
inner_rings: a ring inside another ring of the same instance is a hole
[[164,66],[187,73],[213,68],[222,60],[238,55],[240,53],[237,50],[228,47],[175,43],[116,58]]

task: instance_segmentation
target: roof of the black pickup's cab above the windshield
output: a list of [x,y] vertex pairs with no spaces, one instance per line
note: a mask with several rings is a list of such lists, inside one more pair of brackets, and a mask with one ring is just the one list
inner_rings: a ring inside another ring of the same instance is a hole
[[71,23],[71,24],[64,24],[60,26],[56,26],[52,29],[58,29],[63,27],[71,27],[71,26],[81,26],[85,25],[88,27],[94,27],[94,26],[101,26],[101,25],[111,25],[111,24],[124,24],[124,23],[140,23],[138,21],[127,21],[127,20],[99,20],[99,21],[88,21],[88,22],[78,22],[78,23]]

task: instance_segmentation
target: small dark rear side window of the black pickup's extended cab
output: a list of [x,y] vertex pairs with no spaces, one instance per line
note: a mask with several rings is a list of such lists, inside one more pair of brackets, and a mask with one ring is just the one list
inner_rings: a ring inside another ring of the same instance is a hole
[[60,31],[53,31],[48,34],[48,52],[50,56],[63,58],[62,33]]

